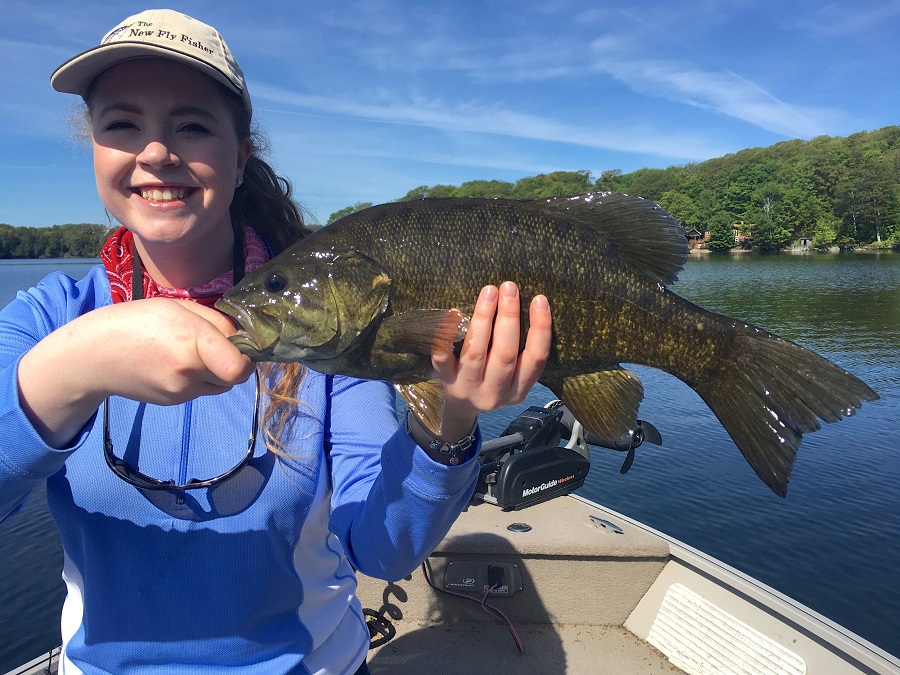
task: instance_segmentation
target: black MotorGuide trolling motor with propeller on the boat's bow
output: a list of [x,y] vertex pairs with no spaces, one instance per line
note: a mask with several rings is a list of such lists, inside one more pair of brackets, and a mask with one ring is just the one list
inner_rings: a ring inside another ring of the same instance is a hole
[[[560,446],[562,439],[569,442]],[[624,474],[644,441],[662,445],[659,431],[644,420],[620,438],[605,439],[587,431],[560,401],[531,406],[498,438],[482,443],[472,500],[519,511],[562,497],[584,484],[591,468],[588,445],[627,452],[620,469]]]

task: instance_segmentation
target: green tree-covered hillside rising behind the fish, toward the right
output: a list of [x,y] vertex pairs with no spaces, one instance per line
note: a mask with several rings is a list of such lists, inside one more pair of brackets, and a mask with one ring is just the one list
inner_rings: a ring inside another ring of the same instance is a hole
[[[820,136],[751,148],[686,166],[555,172],[515,183],[471,181],[421,186],[421,197],[535,199],[611,190],[658,202],[686,228],[709,230],[709,247],[731,248],[735,223],[758,250],[778,250],[800,237],[817,247],[900,245],[900,127],[846,138]],[[355,204],[329,222],[369,204]]]

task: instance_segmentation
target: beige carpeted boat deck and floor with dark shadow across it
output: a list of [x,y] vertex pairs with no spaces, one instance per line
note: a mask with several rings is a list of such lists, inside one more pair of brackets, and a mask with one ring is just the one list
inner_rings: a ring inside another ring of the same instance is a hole
[[[360,576],[363,607],[389,617],[397,633],[369,652],[373,675],[682,672],[624,627],[665,567],[668,546],[637,528],[621,531],[603,515],[570,499],[519,512],[473,506],[428,559],[428,576],[439,588],[454,565],[467,571],[463,576],[489,565],[515,570],[515,592],[488,602],[511,621],[521,654],[480,602],[435,590],[421,568],[396,583]],[[508,529],[521,523],[530,529]]]

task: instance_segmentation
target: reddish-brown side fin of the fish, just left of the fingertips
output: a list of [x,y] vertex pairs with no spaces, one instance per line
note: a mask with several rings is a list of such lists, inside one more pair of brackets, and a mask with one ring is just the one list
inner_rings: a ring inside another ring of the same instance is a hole
[[376,346],[382,351],[417,354],[452,351],[468,327],[468,315],[458,309],[411,310],[382,320]]

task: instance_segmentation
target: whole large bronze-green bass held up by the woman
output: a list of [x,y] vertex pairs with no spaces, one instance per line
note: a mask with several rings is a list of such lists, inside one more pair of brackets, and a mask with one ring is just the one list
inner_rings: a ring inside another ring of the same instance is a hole
[[251,358],[387,379],[436,429],[430,354],[463,335],[449,310],[471,313],[484,285],[515,281],[526,328],[531,298],[550,301],[541,382],[586,428],[627,434],[643,389],[619,364],[659,368],[697,391],[784,496],[802,434],[878,396],[813,352],[669,291],[687,253],[674,218],[625,195],[400,202],[316,231],[218,306],[245,328],[233,341]]

